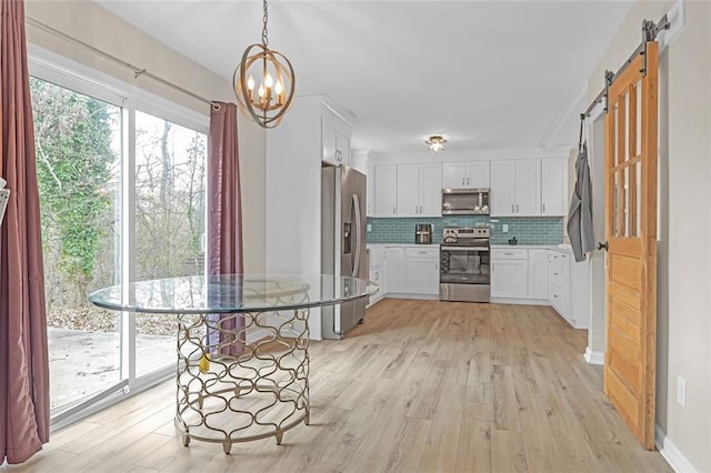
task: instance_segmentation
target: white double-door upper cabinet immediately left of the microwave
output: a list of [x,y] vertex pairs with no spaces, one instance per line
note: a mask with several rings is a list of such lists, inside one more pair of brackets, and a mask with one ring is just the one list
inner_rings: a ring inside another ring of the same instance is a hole
[[[398,164],[398,217],[440,217],[442,214],[441,181],[440,164]],[[377,193],[378,190],[375,190],[378,200],[380,197]]]

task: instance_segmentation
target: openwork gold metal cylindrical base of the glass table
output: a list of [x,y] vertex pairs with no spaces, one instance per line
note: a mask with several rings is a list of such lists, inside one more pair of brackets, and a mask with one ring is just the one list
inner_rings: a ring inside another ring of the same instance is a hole
[[[176,426],[191,440],[233,443],[309,424],[309,309],[179,318]],[[244,343],[248,331],[266,333]]]

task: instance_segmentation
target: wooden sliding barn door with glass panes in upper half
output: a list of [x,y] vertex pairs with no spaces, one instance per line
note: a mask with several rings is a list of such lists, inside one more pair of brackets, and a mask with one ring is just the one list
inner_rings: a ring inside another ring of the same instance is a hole
[[[613,80],[605,119],[604,393],[654,447],[658,43]],[[645,73],[643,72],[645,70]]]

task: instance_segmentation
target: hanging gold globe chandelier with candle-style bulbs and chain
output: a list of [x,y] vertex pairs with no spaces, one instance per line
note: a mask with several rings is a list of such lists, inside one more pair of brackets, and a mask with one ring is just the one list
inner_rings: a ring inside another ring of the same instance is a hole
[[[260,127],[274,128],[291,107],[296,77],[291,62],[282,53],[268,48],[267,0],[263,4],[262,42],[244,50],[242,61],[232,74],[232,87],[244,117]],[[254,78],[259,80],[257,93]]]

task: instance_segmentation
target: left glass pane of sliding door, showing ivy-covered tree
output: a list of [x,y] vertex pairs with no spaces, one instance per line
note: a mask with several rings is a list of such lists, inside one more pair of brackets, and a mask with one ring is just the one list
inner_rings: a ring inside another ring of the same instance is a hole
[[87,293],[121,280],[122,109],[36,78],[30,89],[57,410],[121,381],[121,314]]

